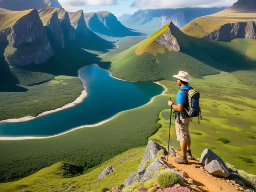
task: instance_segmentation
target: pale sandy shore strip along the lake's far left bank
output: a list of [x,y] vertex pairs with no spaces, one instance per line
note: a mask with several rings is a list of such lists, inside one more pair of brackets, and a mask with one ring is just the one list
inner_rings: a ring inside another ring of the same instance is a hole
[[[86,67],[86,66],[85,66]],[[81,68],[82,69],[82,68]],[[33,116],[26,116],[26,117],[21,117],[21,118],[17,118],[17,119],[6,119],[6,120],[3,120],[3,121],[0,121],[0,122],[8,122],[8,123],[16,123],[16,122],[24,122],[24,121],[30,121],[32,119],[35,119],[35,118],[38,118],[38,117],[41,117],[41,116],[44,116],[44,115],[47,115],[47,114],[50,114],[50,113],[55,113],[57,111],[60,111],[60,110],[63,110],[63,109],[67,109],[67,108],[70,108],[70,107],[73,107],[79,103],[81,103],[84,98],[87,97],[87,92],[86,92],[86,87],[85,87],[85,81],[80,77],[80,70],[78,70],[78,77],[80,78],[81,82],[83,83],[83,87],[84,87],[84,90],[81,92],[81,94],[79,95],[79,97],[73,101],[72,103],[68,103],[67,105],[64,105],[58,109],[54,109],[54,110],[50,110],[50,111],[45,111],[45,112],[42,112],[40,113],[39,115],[37,115],[36,117],[33,117]],[[0,137],[1,138],[1,137]],[[1,140],[1,139],[0,139]]]

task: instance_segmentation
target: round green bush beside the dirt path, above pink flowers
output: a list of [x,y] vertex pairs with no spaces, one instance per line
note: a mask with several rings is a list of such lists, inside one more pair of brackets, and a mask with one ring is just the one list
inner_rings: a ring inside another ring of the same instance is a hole
[[172,187],[175,184],[183,184],[183,179],[174,169],[163,170],[158,176],[157,181],[162,188]]

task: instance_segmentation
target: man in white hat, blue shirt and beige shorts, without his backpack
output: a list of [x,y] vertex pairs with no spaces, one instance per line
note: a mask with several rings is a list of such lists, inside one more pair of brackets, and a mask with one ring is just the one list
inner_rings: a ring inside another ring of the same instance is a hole
[[188,159],[195,159],[191,155],[191,139],[188,131],[188,126],[192,120],[192,117],[189,116],[185,110],[188,108],[188,96],[185,91],[191,89],[188,84],[191,79],[189,78],[188,73],[185,71],[179,71],[179,74],[173,77],[177,78],[177,83],[180,88],[177,93],[176,104],[174,104],[174,102],[170,100],[168,101],[168,105],[174,109],[176,135],[177,140],[180,142],[181,148],[181,156],[174,159],[174,161],[176,163],[187,164]]

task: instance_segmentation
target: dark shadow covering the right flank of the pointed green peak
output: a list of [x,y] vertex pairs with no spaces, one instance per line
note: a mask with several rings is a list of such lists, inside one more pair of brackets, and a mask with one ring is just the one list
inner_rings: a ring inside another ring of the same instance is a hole
[[256,61],[251,60],[222,42],[191,37],[176,26],[170,26],[177,38],[180,52],[187,54],[211,67],[221,71],[238,71],[256,69]]

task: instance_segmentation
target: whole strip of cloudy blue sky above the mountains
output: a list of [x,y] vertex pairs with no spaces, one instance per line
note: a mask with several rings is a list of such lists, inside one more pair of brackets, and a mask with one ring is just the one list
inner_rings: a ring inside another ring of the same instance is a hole
[[133,14],[138,9],[163,9],[182,7],[229,7],[237,0],[58,0],[67,11],[83,9],[84,12],[109,11],[116,17]]

